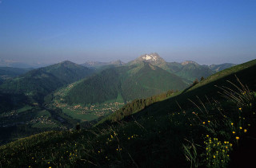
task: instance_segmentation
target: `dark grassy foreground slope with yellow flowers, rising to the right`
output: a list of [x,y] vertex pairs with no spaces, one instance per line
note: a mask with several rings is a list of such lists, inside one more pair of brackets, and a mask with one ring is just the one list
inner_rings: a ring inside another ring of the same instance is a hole
[[[136,100],[129,106],[131,114],[137,112],[125,119],[110,118],[87,130],[51,131],[9,143],[0,147],[0,162],[3,167],[248,167],[254,163],[249,151],[255,150],[256,137],[255,64],[250,61],[219,72],[167,100]],[[205,95],[208,100],[201,104],[198,98],[203,102]]]

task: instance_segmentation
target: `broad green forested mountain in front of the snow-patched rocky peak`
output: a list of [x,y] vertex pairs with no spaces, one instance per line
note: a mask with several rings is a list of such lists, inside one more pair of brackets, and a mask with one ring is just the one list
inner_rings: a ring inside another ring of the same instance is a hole
[[107,68],[74,84],[63,99],[67,104],[102,104],[121,95],[127,102],[183,88],[186,84],[178,76],[150,63],[142,63]]

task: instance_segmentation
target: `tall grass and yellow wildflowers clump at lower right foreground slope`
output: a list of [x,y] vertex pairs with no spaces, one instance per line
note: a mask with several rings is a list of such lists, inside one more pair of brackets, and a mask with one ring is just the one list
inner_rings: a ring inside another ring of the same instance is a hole
[[[198,98],[198,103],[190,100],[198,109],[191,124],[198,125],[202,132],[202,146],[190,147],[183,145],[185,156],[190,161],[191,167],[195,167],[198,150],[202,150],[198,165],[207,167],[226,167],[230,162],[230,154],[233,148],[237,148],[239,141],[246,137],[250,131],[251,124],[255,119],[255,97],[254,92],[242,84],[237,78],[237,84],[227,81],[230,87],[216,86],[218,92],[225,101],[209,100],[203,104]],[[203,142],[203,143],[202,143]],[[191,152],[189,149],[193,149]]]

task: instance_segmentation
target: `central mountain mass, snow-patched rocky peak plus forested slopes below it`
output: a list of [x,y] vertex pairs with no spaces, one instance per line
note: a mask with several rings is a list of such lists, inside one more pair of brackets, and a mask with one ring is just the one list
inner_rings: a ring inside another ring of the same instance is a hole
[[[87,65],[86,65],[87,64]],[[166,62],[158,53],[144,54],[127,64],[121,61],[90,62],[87,67],[102,68],[94,76],[73,84],[59,93],[66,104],[102,104],[109,100],[129,102],[167,90],[182,90],[195,79],[214,73],[194,61]],[[113,65],[113,66],[110,66]],[[107,66],[107,68],[106,68]]]

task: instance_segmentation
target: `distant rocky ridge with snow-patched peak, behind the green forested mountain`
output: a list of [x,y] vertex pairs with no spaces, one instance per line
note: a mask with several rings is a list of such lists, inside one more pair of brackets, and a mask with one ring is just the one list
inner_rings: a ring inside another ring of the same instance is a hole
[[178,62],[166,62],[162,57],[158,55],[158,53],[150,53],[144,54],[134,61],[130,61],[128,63],[124,63],[122,61],[111,61],[111,62],[98,62],[98,61],[90,61],[82,64],[88,68],[95,69],[104,69],[110,67],[118,67],[118,66],[130,66],[132,64],[142,64],[142,62],[148,62],[153,64],[154,66],[158,66],[168,72],[174,73],[177,76],[182,77],[182,79],[186,83],[191,83],[195,79],[200,80],[201,77],[207,77],[213,74],[214,72],[222,71],[225,68],[230,68],[235,64],[211,64],[211,65],[200,65],[195,61],[183,61],[182,63]]

